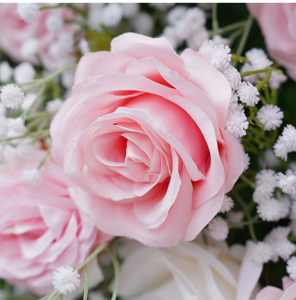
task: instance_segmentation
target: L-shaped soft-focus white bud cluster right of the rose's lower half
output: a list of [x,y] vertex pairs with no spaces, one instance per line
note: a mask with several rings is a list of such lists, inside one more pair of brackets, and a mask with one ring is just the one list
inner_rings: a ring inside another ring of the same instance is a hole
[[256,189],[253,193],[253,201],[257,203],[257,213],[267,222],[277,222],[286,218],[290,212],[290,199],[281,196],[274,197],[275,188],[278,186],[278,175],[270,169],[263,169],[257,173]]

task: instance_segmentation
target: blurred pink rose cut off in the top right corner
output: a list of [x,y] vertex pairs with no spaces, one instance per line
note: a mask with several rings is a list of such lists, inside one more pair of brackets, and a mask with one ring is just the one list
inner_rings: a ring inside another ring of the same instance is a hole
[[247,3],[270,57],[296,81],[296,3]]

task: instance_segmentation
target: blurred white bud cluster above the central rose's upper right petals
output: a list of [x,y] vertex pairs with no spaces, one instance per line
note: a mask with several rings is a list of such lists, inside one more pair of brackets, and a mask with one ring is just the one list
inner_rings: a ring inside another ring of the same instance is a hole
[[175,6],[168,12],[167,22],[168,26],[164,28],[162,36],[173,48],[178,48],[186,42],[189,48],[198,50],[209,38],[208,31],[204,27],[206,15],[204,10],[198,7]]

